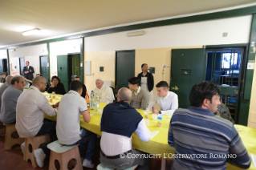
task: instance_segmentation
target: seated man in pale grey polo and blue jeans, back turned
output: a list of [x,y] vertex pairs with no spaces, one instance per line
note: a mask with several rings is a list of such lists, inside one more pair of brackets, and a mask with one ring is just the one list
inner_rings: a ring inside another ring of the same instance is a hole
[[80,115],[83,115],[83,120],[87,123],[91,120],[90,112],[87,111],[87,103],[81,97],[82,92],[82,83],[78,80],[71,81],[70,91],[63,95],[59,102],[56,131],[60,144],[79,144],[82,159],[87,148],[83,167],[94,168],[94,164],[91,164],[91,156],[93,156],[97,136],[80,127]]

